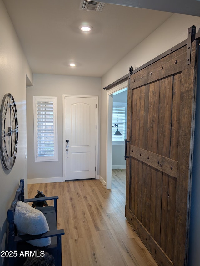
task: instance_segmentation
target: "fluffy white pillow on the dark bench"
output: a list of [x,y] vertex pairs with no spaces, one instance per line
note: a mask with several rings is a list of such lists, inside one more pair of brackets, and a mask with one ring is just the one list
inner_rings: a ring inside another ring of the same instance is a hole
[[[19,235],[39,235],[49,231],[44,214],[22,201],[17,201],[14,223]],[[46,247],[51,244],[51,238],[35,239],[27,242],[33,246]]]

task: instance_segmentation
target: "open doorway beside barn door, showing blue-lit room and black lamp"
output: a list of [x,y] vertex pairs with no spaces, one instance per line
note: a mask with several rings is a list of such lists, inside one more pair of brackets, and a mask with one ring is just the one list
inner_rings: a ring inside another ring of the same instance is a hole
[[[112,170],[126,173],[124,148],[126,138],[127,90],[128,82],[108,91],[107,115],[107,171],[106,188],[112,187]],[[119,134],[120,132],[120,134]]]

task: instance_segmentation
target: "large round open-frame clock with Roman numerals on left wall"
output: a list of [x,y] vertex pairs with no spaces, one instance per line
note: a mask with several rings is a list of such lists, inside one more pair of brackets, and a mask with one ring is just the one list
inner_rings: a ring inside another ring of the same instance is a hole
[[4,167],[11,170],[17,155],[17,108],[12,94],[4,95],[0,110],[0,150]]

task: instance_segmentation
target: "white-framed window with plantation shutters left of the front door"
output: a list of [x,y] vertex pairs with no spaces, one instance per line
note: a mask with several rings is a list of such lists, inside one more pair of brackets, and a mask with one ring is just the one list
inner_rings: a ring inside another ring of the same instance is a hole
[[58,161],[57,97],[33,96],[35,162]]

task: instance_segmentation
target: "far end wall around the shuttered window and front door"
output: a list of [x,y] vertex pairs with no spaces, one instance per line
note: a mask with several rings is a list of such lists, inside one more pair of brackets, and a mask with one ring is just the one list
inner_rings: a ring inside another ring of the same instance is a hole
[[[38,178],[46,178],[41,182],[45,182],[45,180],[49,182],[51,179],[53,181],[60,181],[63,178],[63,94],[100,96],[100,88],[100,78],[47,74],[33,75],[33,86],[27,89],[27,161],[29,183],[40,183],[40,180],[35,180]],[[57,96],[58,161],[34,162],[33,96]]]

